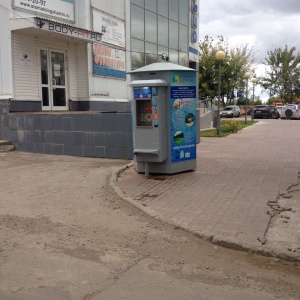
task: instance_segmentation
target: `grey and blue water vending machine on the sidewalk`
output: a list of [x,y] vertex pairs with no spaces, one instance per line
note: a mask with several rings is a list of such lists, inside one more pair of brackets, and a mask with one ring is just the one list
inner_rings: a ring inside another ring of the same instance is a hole
[[131,72],[133,153],[139,173],[196,168],[196,71],[170,62]]

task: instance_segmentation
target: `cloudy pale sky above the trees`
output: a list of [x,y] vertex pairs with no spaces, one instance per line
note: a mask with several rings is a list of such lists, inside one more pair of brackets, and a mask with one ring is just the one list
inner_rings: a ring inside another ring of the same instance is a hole
[[[199,39],[222,35],[231,46],[248,44],[256,53],[256,74],[263,75],[267,51],[296,47],[300,52],[300,0],[200,0]],[[268,99],[257,86],[257,96]]]

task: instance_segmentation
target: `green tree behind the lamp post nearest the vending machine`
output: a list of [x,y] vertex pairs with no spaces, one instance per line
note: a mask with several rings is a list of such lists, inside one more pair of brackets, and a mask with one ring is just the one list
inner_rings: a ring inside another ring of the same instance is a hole
[[199,97],[213,99],[218,96],[218,62],[216,52],[226,54],[221,68],[221,102],[223,106],[232,104],[237,89],[244,90],[243,75],[251,69],[254,52],[249,46],[230,47],[222,36],[214,41],[205,36],[199,43]]

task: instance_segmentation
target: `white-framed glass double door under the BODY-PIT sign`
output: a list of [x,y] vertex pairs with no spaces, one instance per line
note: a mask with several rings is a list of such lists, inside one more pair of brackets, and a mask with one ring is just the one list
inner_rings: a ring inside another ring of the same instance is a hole
[[65,52],[43,49],[40,57],[43,110],[67,110]]

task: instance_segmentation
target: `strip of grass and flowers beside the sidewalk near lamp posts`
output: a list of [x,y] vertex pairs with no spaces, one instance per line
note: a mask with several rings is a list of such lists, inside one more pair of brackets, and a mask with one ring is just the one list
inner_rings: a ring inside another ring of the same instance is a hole
[[[245,121],[243,120],[221,120],[220,124],[220,130],[221,130],[221,136],[225,137],[233,133],[237,133],[240,130],[242,130],[245,127],[251,126],[253,124],[257,123],[257,121],[247,121],[247,124],[245,124]],[[218,137],[217,135],[217,129],[205,129],[201,130],[200,132],[201,137]]]

